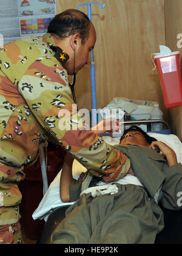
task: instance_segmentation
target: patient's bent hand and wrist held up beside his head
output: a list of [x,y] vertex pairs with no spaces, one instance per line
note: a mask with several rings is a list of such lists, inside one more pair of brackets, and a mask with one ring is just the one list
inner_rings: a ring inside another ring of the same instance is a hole
[[157,150],[158,149],[161,151],[161,153],[166,156],[167,162],[169,166],[175,165],[178,163],[177,161],[177,156],[175,154],[175,151],[172,150],[169,146],[167,146],[164,142],[161,141],[153,141],[149,148],[152,148],[152,150]]

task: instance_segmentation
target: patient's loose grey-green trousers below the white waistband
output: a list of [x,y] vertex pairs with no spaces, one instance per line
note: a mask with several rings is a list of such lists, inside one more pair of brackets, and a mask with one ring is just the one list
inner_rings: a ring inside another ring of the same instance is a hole
[[150,204],[143,187],[117,185],[113,195],[81,196],[53,232],[53,243],[154,243],[164,226],[160,207]]

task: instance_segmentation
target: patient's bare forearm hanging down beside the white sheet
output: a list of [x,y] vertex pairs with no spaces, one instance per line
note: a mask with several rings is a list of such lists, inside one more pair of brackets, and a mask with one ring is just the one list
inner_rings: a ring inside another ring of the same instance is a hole
[[60,197],[62,202],[70,201],[70,183],[73,179],[72,176],[72,165],[73,165],[73,157],[69,154],[66,154],[64,157],[64,163],[61,171],[61,179],[60,179]]

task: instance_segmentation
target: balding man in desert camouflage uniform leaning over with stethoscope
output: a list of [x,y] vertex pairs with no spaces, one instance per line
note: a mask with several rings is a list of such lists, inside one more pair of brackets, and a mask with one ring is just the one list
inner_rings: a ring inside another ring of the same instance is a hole
[[[127,168],[122,167],[127,157],[96,133],[79,130],[83,123],[73,110],[67,75],[89,63],[95,41],[87,16],[67,10],[55,16],[44,36],[0,49],[0,244],[22,243],[17,184],[25,178],[24,165],[38,158],[45,132],[105,181],[126,175]],[[66,130],[60,125],[64,109],[70,112],[68,120],[77,120],[68,122]]]

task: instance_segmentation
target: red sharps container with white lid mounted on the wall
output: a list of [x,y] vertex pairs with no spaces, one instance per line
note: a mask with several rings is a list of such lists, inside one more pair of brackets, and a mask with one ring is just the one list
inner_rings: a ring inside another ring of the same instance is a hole
[[160,75],[166,108],[182,105],[180,52],[171,52],[167,46],[160,46],[160,53],[153,55]]

